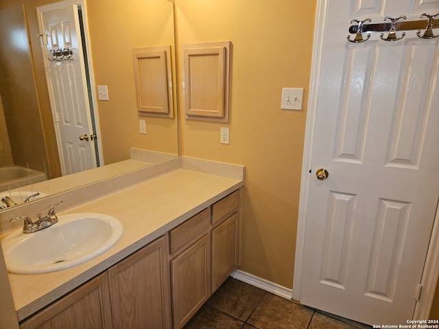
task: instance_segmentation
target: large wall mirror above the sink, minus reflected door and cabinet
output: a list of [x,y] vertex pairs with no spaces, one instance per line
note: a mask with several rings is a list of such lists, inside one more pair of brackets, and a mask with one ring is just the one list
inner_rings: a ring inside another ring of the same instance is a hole
[[[95,97],[90,105],[97,113],[95,131],[99,133],[92,143],[99,145],[98,168],[91,169],[89,175],[62,172],[51,106],[53,96],[46,78],[48,56],[37,14],[37,8],[57,2],[60,1],[0,0],[0,197],[12,195],[11,191],[27,193],[41,188],[47,190],[41,195],[60,193],[179,153],[174,2],[78,0],[79,5],[82,3],[80,16],[84,16],[88,32],[83,38],[91,62],[88,89]],[[161,46],[171,49],[169,92],[174,102],[174,117],[142,116],[137,111],[133,49]],[[75,49],[72,50],[74,53]],[[107,87],[108,100],[98,99],[97,86]],[[140,132],[140,120],[145,121],[146,134]],[[133,151],[143,162],[126,163]],[[143,151],[153,156],[142,158]],[[21,173],[15,172],[17,167]],[[112,169],[107,170],[108,167]],[[23,168],[30,170],[23,174]],[[24,186],[16,186],[15,175],[31,180],[27,181],[29,184],[20,183]],[[34,175],[38,178],[33,178]],[[73,182],[68,180],[69,176],[75,177]],[[45,188],[49,184],[51,187]],[[20,195],[19,201],[22,198]],[[0,202],[0,206],[6,205]]]

